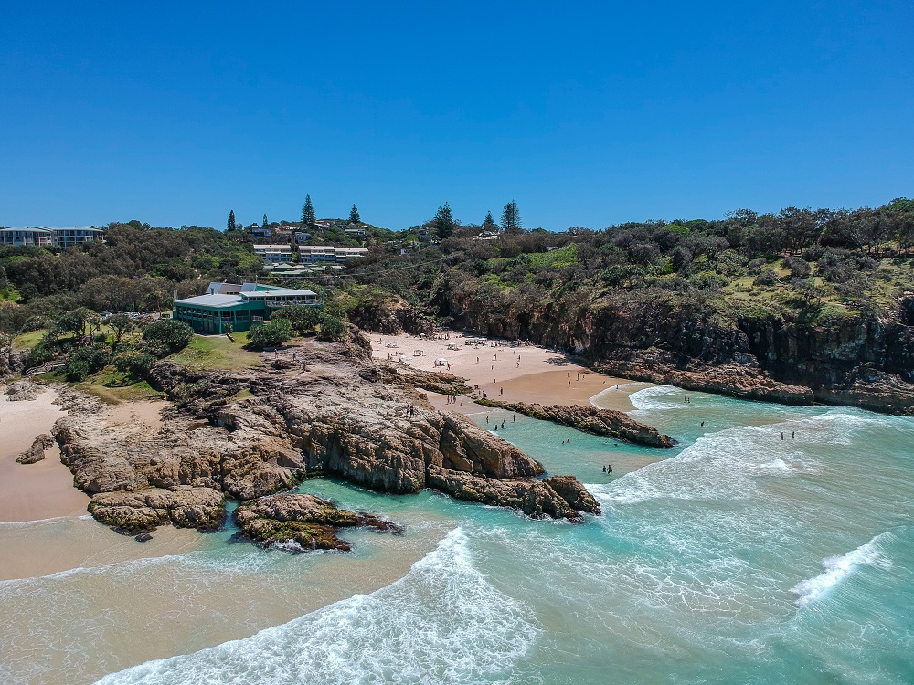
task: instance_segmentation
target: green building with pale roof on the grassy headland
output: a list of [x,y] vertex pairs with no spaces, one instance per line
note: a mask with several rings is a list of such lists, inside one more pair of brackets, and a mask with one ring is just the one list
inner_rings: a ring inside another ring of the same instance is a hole
[[270,319],[271,311],[293,304],[320,307],[324,300],[312,290],[213,282],[206,295],[175,300],[172,318],[189,324],[194,332],[221,335],[247,331]]

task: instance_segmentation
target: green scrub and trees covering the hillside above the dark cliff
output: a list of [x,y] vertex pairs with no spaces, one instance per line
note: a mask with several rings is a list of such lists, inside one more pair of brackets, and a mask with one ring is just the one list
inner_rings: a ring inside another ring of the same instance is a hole
[[914,279],[914,201],[876,209],[750,210],[724,219],[649,221],[480,240],[457,227],[431,248],[347,266],[350,311],[399,297],[442,323],[508,330],[547,314],[634,306],[692,319],[775,316],[827,323],[898,316]]

